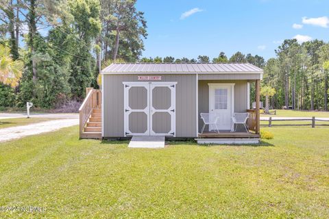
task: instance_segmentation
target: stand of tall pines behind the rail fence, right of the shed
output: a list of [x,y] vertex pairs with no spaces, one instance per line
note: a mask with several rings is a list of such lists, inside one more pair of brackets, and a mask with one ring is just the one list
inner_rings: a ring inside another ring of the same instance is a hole
[[328,111],[328,43],[284,40],[264,70],[263,84],[276,89],[273,107]]

